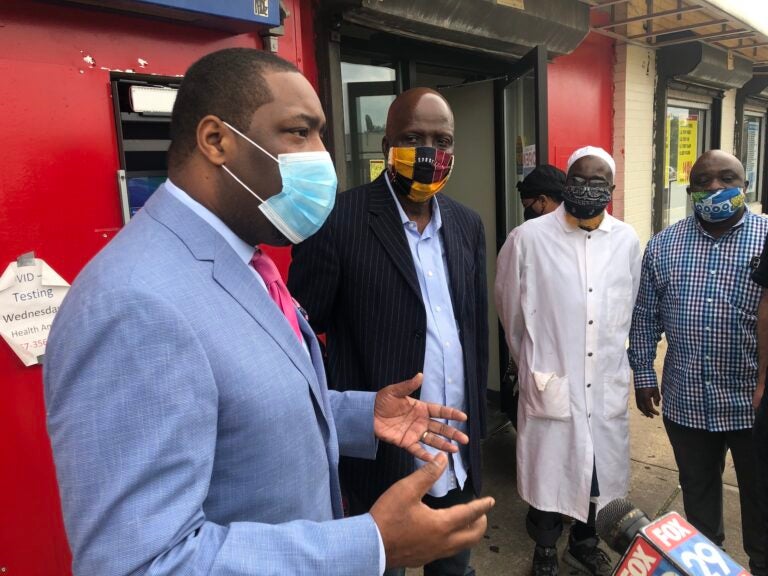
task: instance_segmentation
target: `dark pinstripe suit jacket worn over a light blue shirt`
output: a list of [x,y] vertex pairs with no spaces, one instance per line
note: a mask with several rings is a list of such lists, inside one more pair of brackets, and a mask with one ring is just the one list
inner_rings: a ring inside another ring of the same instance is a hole
[[[437,201],[464,354],[468,463],[479,491],[488,373],[485,234],[473,211],[443,194]],[[312,327],[327,335],[329,386],[375,391],[422,371],[427,317],[408,240],[383,175],[338,196],[322,230],[294,246],[288,282]],[[412,456],[383,444],[375,462],[342,458],[342,485],[351,511],[367,510],[412,470]]]

